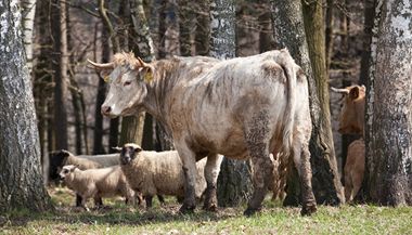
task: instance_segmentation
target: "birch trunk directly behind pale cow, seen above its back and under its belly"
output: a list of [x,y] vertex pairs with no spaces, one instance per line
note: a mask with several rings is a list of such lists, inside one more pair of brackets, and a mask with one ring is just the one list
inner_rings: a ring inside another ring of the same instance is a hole
[[[234,57],[236,45],[234,0],[211,1],[210,32],[210,55],[223,60]],[[218,178],[218,205],[239,206],[248,200],[252,190],[250,167],[246,161],[224,158]]]

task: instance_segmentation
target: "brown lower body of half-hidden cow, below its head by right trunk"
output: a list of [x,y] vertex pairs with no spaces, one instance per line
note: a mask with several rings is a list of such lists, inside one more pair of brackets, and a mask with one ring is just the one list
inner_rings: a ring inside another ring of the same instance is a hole
[[348,146],[345,164],[345,199],[351,201],[362,186],[364,173],[364,141],[356,140]]

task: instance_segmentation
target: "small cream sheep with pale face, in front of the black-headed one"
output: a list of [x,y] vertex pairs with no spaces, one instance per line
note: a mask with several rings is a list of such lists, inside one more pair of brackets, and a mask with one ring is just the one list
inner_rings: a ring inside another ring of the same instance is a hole
[[81,207],[89,211],[86,203],[89,198],[126,197],[126,204],[134,205],[134,192],[130,188],[120,166],[80,170],[74,165],[64,166],[60,177],[67,186],[82,197]]

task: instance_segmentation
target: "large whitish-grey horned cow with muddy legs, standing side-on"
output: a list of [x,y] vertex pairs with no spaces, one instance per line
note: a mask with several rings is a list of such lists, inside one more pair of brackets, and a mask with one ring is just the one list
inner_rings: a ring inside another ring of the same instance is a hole
[[301,213],[316,211],[308,81],[287,50],[227,61],[193,56],[150,64],[123,53],[111,63],[91,64],[112,70],[102,114],[117,117],[146,110],[172,135],[185,178],[181,212],[195,208],[195,162],[204,157],[204,208],[216,209],[217,156],[221,154],[252,158],[254,194],[245,214],[255,213],[272,179],[270,154],[278,153],[285,153],[282,156],[291,157],[297,166]]

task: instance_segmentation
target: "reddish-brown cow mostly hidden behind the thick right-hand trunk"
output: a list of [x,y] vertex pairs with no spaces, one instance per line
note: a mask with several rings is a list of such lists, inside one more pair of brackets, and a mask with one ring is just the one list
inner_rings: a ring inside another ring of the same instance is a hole
[[[340,112],[339,129],[343,134],[364,133],[364,104],[365,87],[350,86],[344,89],[332,88],[333,91],[344,93],[345,101]],[[364,140],[353,141],[348,146],[345,172],[345,199],[351,201],[362,185],[365,161]]]

